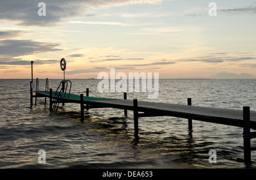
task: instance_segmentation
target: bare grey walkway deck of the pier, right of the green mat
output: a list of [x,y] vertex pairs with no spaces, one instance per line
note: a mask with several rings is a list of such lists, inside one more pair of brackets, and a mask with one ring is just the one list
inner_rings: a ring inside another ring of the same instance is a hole
[[[109,106],[133,108],[132,100],[100,101]],[[132,110],[132,109],[130,109]],[[243,111],[234,109],[210,108],[203,106],[188,106],[179,104],[167,104],[162,102],[138,101],[139,112],[162,113],[173,117],[194,119],[205,122],[220,123],[230,126],[243,127]],[[251,128],[256,129],[256,112],[250,111]]]

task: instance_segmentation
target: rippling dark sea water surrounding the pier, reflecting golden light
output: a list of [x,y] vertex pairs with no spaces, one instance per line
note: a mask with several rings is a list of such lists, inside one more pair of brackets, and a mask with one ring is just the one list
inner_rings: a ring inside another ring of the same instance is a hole
[[[90,96],[123,98],[122,93],[99,93],[100,80],[72,80],[72,93],[86,88]],[[187,119],[174,117],[139,118],[139,139],[133,136],[133,112],[85,110],[80,122],[80,106],[60,105],[50,113],[44,98],[30,108],[29,79],[0,80],[0,167],[1,168],[246,168],[242,128],[193,121],[189,134]],[[49,79],[56,89],[60,80]],[[45,80],[39,80],[44,90]],[[256,80],[164,79],[159,80],[159,97],[147,93],[127,93],[127,98],[155,102],[256,110]],[[35,100],[34,100],[35,103]],[[256,147],[256,140],[251,140]],[[46,151],[46,163],[39,164],[38,151]],[[208,161],[210,149],[217,163]],[[252,152],[253,165],[256,153]]]

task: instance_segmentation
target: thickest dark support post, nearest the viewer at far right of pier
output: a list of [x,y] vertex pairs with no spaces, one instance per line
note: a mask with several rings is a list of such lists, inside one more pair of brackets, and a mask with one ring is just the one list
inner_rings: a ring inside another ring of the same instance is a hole
[[246,165],[251,164],[251,139],[250,139],[250,107],[243,107],[243,158]]

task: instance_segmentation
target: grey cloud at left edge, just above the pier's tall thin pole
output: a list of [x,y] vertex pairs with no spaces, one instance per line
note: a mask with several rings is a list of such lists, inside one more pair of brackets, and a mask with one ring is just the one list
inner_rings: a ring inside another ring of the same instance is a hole
[[57,48],[60,44],[52,42],[38,42],[32,40],[1,40],[0,41],[0,64],[1,65],[23,65],[22,55],[53,52],[61,50]]

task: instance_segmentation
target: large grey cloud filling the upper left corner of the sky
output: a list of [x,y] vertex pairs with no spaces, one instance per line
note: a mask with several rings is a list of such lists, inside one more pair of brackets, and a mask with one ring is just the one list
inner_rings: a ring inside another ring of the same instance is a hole
[[164,0],[44,0],[46,16],[39,16],[38,10],[41,7],[38,7],[38,4],[42,2],[41,0],[9,0],[1,1],[0,19],[16,22],[17,25],[49,27],[65,22],[69,18],[93,16],[93,14],[86,13],[90,8],[109,8],[142,3],[158,4],[162,1]]

